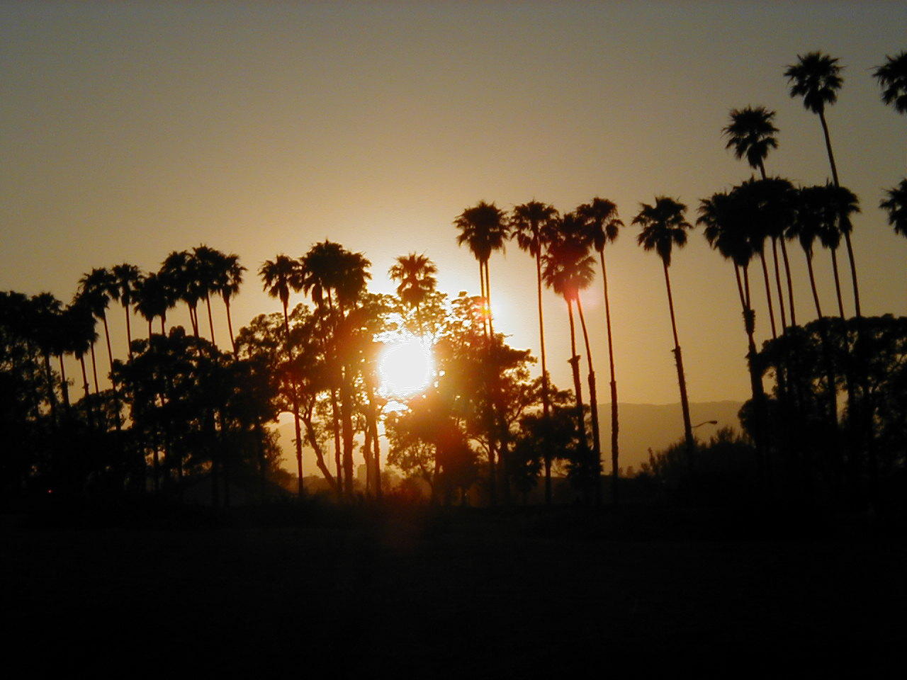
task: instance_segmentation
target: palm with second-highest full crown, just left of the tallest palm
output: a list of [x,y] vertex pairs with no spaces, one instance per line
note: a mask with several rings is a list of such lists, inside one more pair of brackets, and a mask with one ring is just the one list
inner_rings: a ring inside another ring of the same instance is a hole
[[[722,132],[727,136],[726,149],[734,149],[736,158],[746,157],[746,162],[754,170],[759,170],[763,181],[766,180],[765,160],[768,151],[778,148],[778,141],[775,133],[778,129],[774,122],[775,112],[769,111],[764,106],[747,106],[745,109],[732,109],[730,112],[731,121]],[[766,235],[767,231],[766,231]],[[770,235],[769,235],[770,236]],[[778,290],[778,306],[781,310],[782,328],[787,326],[785,314],[785,298],[781,292],[781,274],[778,267],[777,237],[772,238],[772,254],[775,264],[775,285]],[[784,240],[781,241],[782,250],[785,249]],[[764,249],[759,249],[759,257],[762,259],[764,276],[766,277],[766,297],[768,298],[769,320],[772,325],[772,336],[776,337],[775,332],[775,311],[772,307],[771,293],[768,286],[768,274],[765,267]],[[786,257],[786,253],[785,253]],[[786,260],[785,260],[786,262]],[[790,283],[790,270],[787,270],[788,289],[792,288]]]

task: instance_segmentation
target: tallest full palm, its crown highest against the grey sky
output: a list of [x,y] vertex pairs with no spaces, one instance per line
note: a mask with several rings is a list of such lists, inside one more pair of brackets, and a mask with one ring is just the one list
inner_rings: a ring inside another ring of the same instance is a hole
[[[825,137],[825,151],[828,152],[828,162],[832,168],[832,180],[835,187],[840,187],[838,169],[834,163],[832,141],[828,135],[828,123],[825,121],[825,105],[838,101],[838,90],[844,84],[841,77],[843,67],[838,65],[838,60],[821,52],[810,52],[803,56],[797,54],[797,63],[791,64],[785,71],[785,77],[791,83],[790,95],[803,97],[803,105],[807,111],[819,116],[822,131]],[[856,316],[860,312],[860,288],[857,284],[856,261],[853,258],[853,244],[850,238],[851,229],[842,229],[844,245],[847,246],[847,257],[850,260],[851,279],[853,282],[853,307]]]

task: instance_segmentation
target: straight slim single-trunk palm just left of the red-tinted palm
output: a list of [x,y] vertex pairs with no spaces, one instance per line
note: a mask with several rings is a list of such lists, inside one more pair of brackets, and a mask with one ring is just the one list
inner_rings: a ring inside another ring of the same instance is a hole
[[[531,200],[514,206],[508,226],[521,250],[535,258],[535,290],[539,307],[539,346],[541,354],[541,410],[547,419],[551,413],[548,356],[545,352],[545,323],[541,309],[541,252],[551,240],[558,211],[554,206]],[[551,452],[545,452],[545,502],[551,504]]]

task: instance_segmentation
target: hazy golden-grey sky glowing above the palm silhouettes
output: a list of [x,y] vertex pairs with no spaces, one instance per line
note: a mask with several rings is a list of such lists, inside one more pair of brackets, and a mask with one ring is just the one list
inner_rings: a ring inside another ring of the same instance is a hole
[[[263,260],[330,238],[371,259],[375,290],[391,292],[387,268],[416,251],[434,258],[442,290],[477,293],[452,226],[464,208],[534,198],[566,211],[599,195],[629,224],[639,201],[665,194],[693,221],[698,199],[750,175],[724,149],[731,108],[777,112],[770,174],[824,182],[818,119],[782,75],[797,53],[822,50],[846,66],[827,118],[841,180],[863,205],[863,313],[904,315],[907,242],[877,206],[907,174],[907,118],[880,102],[872,70],[905,36],[903,2],[3,2],[0,289],[69,300],[92,267],[156,269],[203,242],[249,267],[239,327],[279,308],[255,276]],[[661,267],[638,231],[607,251],[619,399],[677,402]],[[791,253],[808,320],[802,252]],[[828,258],[817,259],[834,312]],[[532,260],[508,246],[491,276],[495,327],[537,354]],[[671,277],[690,399],[746,399],[732,267],[697,230]],[[844,295],[853,313],[849,285]],[[607,393],[599,279],[584,302]],[[550,293],[545,305],[550,370],[566,387],[565,306]]]

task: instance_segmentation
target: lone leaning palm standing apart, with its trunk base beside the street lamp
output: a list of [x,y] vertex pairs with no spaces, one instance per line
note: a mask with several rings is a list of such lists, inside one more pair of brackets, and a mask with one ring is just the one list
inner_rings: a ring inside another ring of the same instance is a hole
[[687,206],[678,200],[666,196],[657,196],[655,203],[639,204],[639,213],[633,218],[633,224],[642,227],[637,242],[644,250],[655,250],[661,257],[665,271],[665,286],[668,288],[668,309],[671,314],[671,331],[674,334],[674,359],[678,369],[678,386],[680,388],[680,410],[683,413],[684,439],[687,444],[687,460],[693,466],[694,442],[693,428],[689,420],[689,402],[687,398],[687,380],[683,371],[683,356],[680,354],[678,326],[674,316],[674,298],[671,296],[671,279],[668,267],[671,265],[671,251],[675,246],[687,245],[687,231],[692,225],[684,218]]

